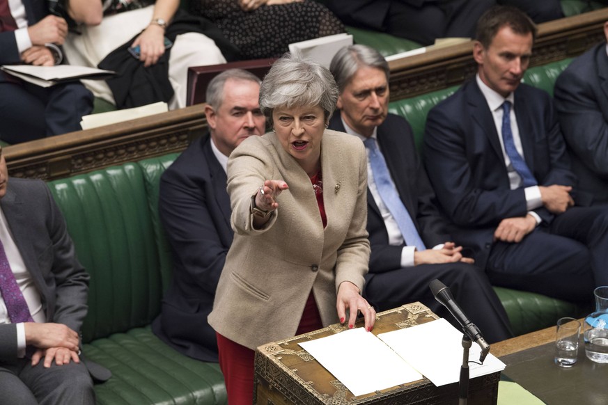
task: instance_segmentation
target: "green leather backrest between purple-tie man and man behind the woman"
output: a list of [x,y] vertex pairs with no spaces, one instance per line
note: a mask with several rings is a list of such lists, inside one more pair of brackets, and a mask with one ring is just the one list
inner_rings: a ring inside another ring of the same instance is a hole
[[158,248],[158,179],[175,156],[48,184],[91,274],[84,342],[146,326],[159,313],[171,269]]

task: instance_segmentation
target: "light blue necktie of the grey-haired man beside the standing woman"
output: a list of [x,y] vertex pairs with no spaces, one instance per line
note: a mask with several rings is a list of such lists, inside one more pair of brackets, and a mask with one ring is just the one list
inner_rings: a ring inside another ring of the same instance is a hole
[[[387,206],[397,222],[405,243],[408,246],[416,246],[419,251],[425,250],[424,243],[420,239],[420,235],[418,235],[410,213],[405,209],[397,190],[391,184],[391,175],[389,174],[389,168],[387,168],[387,162],[384,160],[380,150],[378,150],[374,138],[367,138],[364,143],[365,147],[369,150],[369,161],[380,198],[382,198],[384,205]],[[407,173],[403,173],[403,175],[407,175]]]

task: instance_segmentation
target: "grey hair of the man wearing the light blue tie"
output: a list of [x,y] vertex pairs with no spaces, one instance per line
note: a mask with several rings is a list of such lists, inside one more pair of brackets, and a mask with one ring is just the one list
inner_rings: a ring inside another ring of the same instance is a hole
[[384,72],[387,82],[389,81],[391,74],[389,63],[380,52],[366,45],[350,45],[350,47],[343,47],[337,51],[329,65],[329,71],[336,79],[340,94],[362,66],[377,67]]

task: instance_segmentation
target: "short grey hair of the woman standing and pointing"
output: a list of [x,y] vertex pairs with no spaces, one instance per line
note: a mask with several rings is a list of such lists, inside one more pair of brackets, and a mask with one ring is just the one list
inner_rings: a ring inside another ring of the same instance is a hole
[[327,67],[285,54],[272,64],[260,86],[260,109],[272,122],[278,107],[320,106],[329,119],[338,102],[338,86]]

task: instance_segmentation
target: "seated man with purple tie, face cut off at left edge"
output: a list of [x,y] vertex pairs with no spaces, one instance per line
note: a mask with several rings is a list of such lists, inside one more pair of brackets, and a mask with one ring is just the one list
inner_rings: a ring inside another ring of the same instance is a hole
[[63,216],[45,183],[8,182],[3,155],[0,198],[0,402],[93,405],[79,358],[88,274]]

